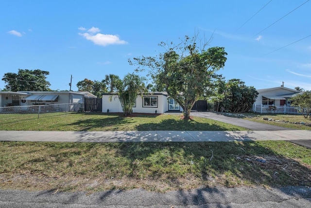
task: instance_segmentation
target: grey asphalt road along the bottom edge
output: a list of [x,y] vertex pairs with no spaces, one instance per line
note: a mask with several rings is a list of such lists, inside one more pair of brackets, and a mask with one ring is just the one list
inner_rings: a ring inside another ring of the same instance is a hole
[[[56,193],[55,193],[56,192]],[[87,195],[56,190],[0,190],[1,208],[310,208],[311,188],[209,188],[167,193],[143,189]]]

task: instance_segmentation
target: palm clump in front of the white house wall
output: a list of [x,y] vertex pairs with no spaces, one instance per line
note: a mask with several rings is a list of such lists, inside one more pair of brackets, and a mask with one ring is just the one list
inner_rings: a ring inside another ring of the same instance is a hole
[[123,80],[115,80],[117,95],[125,116],[131,115],[138,94],[146,92],[144,81],[146,78],[135,74],[127,74]]

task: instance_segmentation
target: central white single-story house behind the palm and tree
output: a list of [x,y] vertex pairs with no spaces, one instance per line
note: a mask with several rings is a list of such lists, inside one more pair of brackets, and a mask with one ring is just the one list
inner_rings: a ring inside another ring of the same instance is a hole
[[[103,94],[103,113],[122,113],[118,95]],[[166,111],[182,112],[183,109],[166,92],[138,95],[133,106],[133,113],[164,113]]]

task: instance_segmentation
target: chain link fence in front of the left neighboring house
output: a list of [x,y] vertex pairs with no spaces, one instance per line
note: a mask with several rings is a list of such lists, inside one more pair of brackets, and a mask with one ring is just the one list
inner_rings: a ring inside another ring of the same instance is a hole
[[83,103],[65,103],[51,105],[32,105],[32,106],[10,106],[0,107],[0,117],[2,114],[37,114],[38,118],[42,115],[53,113],[82,112]]

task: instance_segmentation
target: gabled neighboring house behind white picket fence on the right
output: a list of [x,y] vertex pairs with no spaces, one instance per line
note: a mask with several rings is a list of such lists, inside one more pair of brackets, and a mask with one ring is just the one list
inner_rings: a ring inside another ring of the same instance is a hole
[[283,86],[257,90],[258,97],[253,105],[257,113],[295,113],[291,98],[302,92]]

